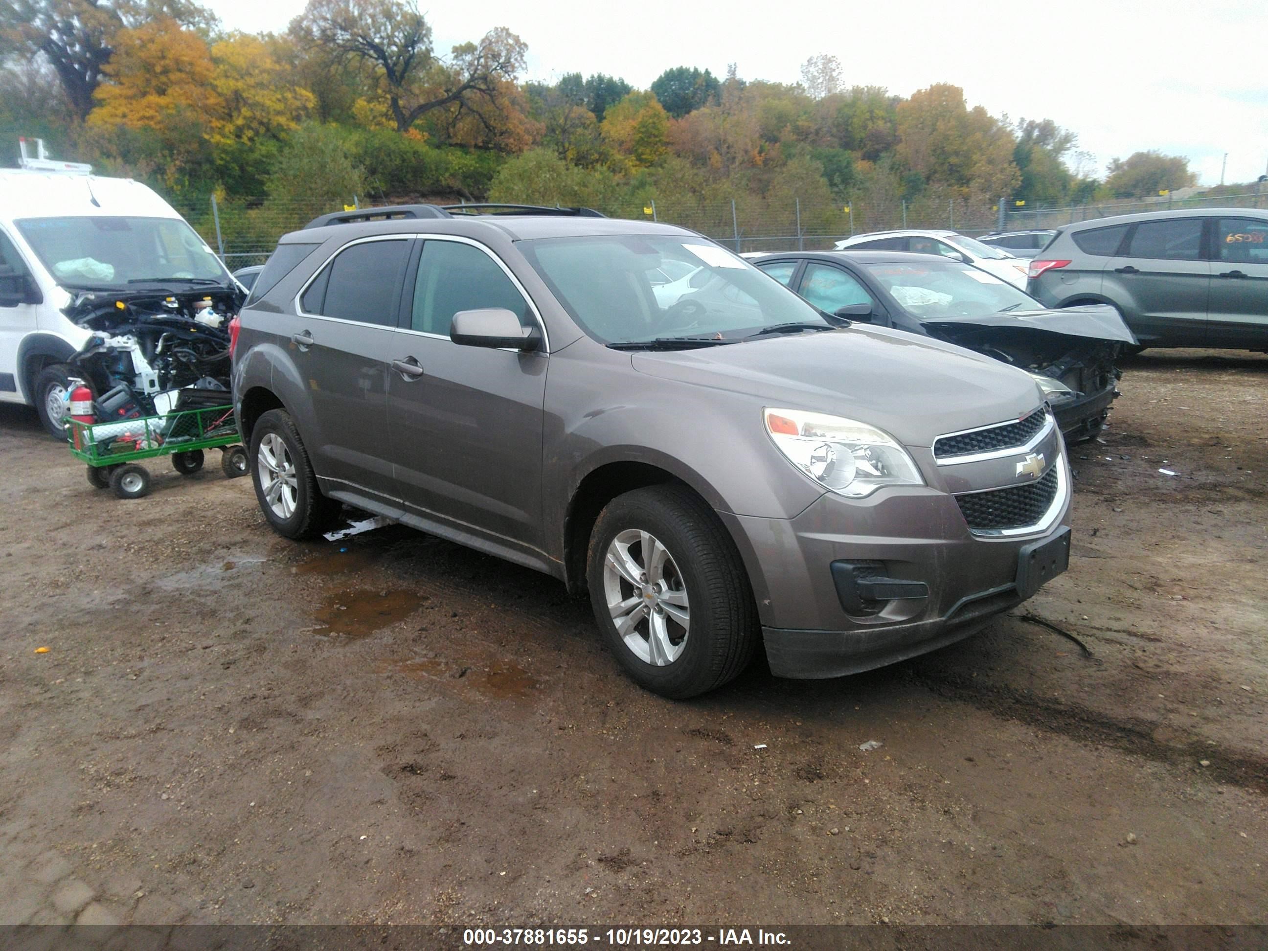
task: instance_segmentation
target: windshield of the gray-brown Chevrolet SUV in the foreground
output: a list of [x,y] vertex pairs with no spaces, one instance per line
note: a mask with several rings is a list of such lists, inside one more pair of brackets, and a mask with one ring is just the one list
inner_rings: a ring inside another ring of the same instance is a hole
[[[730,251],[690,237],[538,238],[520,247],[573,320],[604,344],[836,326]],[[691,276],[664,283],[667,274]]]

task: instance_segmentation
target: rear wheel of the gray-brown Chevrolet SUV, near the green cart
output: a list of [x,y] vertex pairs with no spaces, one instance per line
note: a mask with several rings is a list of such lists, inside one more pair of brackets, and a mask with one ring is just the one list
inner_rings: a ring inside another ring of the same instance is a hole
[[321,493],[308,450],[285,410],[269,410],[256,421],[250,462],[260,511],[279,535],[316,538],[339,517],[342,505]]

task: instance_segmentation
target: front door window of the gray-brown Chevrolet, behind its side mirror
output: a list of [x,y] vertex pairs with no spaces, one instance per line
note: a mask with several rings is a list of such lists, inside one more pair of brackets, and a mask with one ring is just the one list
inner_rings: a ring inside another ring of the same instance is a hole
[[501,307],[531,326],[529,304],[497,262],[478,247],[458,241],[427,241],[418,260],[410,326],[449,336],[454,314]]

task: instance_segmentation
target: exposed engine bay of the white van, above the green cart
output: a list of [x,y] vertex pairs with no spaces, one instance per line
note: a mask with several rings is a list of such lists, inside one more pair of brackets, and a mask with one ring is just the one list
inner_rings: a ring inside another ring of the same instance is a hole
[[98,418],[230,402],[228,325],[242,301],[236,285],[79,293],[65,313],[93,336],[68,363]]

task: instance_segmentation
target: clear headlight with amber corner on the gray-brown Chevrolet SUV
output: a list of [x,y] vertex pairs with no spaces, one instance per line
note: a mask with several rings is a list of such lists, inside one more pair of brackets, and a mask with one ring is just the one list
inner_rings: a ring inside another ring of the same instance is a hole
[[765,417],[787,460],[837,495],[864,498],[883,486],[924,484],[907,450],[874,426],[801,410],[766,410]]

